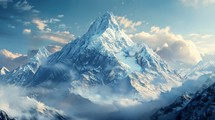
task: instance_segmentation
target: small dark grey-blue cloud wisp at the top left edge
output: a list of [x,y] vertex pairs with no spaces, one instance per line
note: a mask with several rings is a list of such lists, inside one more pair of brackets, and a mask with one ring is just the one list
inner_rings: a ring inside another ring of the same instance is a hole
[[28,1],[21,0],[15,4],[15,8],[23,11],[30,11],[34,6],[30,5]]

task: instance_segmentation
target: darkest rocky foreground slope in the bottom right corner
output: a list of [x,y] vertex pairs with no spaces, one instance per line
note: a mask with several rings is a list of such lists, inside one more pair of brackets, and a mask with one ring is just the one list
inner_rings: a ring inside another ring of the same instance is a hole
[[215,83],[202,92],[197,92],[192,100],[177,115],[178,120],[215,119]]

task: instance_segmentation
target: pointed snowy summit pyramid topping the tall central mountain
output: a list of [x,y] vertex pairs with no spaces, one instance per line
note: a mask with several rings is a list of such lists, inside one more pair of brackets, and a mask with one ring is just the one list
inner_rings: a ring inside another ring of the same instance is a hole
[[91,25],[88,32],[81,38],[86,42],[86,48],[96,49],[101,53],[118,53],[135,43],[121,31],[116,17],[105,13]]

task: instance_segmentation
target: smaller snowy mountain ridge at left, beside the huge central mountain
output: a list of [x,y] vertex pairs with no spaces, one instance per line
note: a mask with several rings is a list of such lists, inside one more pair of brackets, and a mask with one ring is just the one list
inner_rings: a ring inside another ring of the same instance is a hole
[[45,62],[49,56],[49,52],[45,47],[40,48],[27,64],[24,64],[4,76],[0,76],[0,80],[5,83],[16,85],[27,85],[28,80],[33,77],[39,66]]

